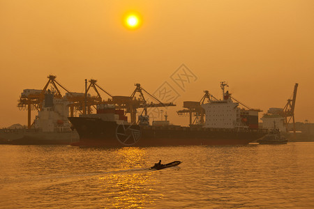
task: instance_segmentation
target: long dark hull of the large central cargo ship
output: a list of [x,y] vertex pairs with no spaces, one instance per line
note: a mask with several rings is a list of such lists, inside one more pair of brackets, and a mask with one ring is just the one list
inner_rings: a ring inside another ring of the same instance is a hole
[[203,127],[118,125],[100,118],[68,118],[80,135],[73,146],[244,145],[260,139],[262,130]]

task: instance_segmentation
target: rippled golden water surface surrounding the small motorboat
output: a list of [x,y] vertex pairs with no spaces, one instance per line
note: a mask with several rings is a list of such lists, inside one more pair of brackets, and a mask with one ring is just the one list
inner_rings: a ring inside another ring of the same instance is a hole
[[314,143],[0,146],[0,208],[74,207],[314,208]]

